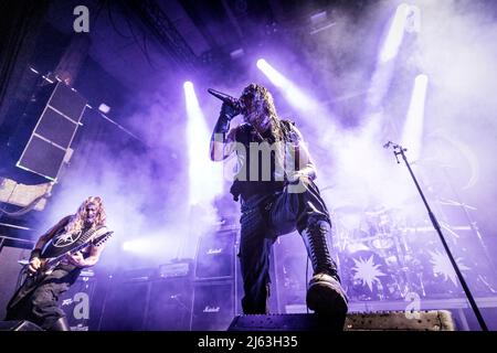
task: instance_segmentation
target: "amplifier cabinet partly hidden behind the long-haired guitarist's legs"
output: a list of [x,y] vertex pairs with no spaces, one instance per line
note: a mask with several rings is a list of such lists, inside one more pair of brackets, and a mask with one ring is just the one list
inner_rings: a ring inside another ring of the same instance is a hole
[[95,278],[92,270],[82,271],[76,282],[59,298],[72,331],[88,331],[91,306],[95,291]]

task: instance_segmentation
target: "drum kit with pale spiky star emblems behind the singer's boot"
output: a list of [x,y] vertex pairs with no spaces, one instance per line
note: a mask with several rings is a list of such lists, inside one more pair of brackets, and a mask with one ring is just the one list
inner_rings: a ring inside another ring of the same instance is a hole
[[[464,296],[433,227],[410,226],[402,210],[388,207],[340,207],[334,218],[332,244],[350,300],[403,300],[410,292],[434,299]],[[467,249],[457,248],[463,275],[480,278],[480,289],[495,293]]]

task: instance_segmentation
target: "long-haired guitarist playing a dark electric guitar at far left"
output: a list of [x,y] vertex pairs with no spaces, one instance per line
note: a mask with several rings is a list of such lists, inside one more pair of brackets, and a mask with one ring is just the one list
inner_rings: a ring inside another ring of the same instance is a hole
[[[6,320],[29,320],[44,330],[70,331],[64,311],[57,306],[59,297],[76,281],[83,268],[98,261],[104,246],[89,244],[72,255],[68,253],[83,242],[107,233],[105,222],[102,199],[91,196],[74,215],[65,216],[43,234],[31,252],[28,267],[28,276],[31,276],[28,278],[34,277],[36,280],[34,285],[25,280],[14,293],[7,306]],[[40,276],[45,258],[66,253],[52,272]]]

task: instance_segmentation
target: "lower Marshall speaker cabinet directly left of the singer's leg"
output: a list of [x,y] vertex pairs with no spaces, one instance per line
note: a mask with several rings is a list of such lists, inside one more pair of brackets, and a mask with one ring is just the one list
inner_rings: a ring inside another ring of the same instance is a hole
[[191,331],[225,331],[235,311],[233,280],[197,282],[193,286]]

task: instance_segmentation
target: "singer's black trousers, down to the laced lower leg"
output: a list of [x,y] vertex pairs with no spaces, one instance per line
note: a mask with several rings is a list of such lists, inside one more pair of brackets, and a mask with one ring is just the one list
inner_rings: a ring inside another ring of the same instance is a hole
[[[329,255],[328,210],[314,182],[302,192],[254,195],[242,201],[240,264],[243,278],[244,313],[267,313],[269,296],[269,255],[277,236],[297,229],[304,238],[313,269],[336,276],[337,267]],[[336,276],[338,277],[338,276]]]

